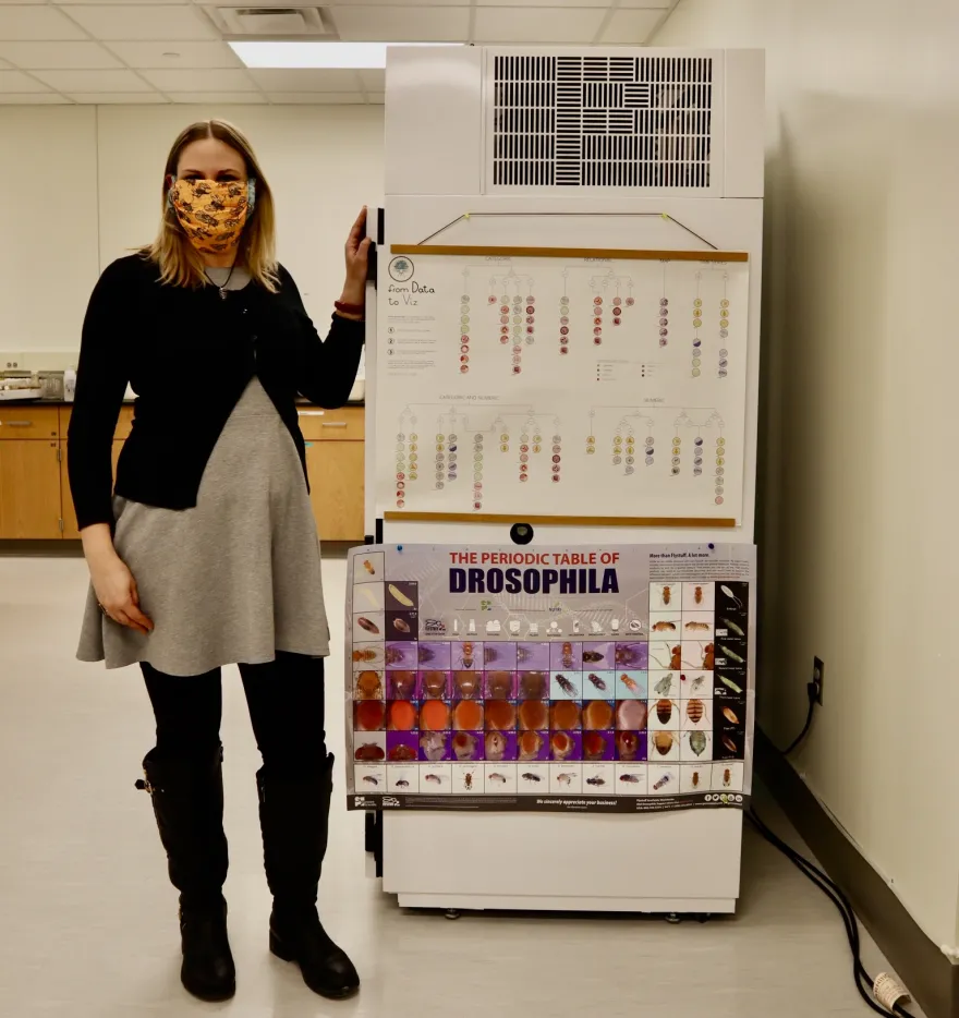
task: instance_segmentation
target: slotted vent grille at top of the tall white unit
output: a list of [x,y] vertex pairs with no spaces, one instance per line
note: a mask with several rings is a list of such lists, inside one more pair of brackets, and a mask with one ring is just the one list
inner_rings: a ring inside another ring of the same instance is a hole
[[494,58],[493,183],[709,186],[708,57]]

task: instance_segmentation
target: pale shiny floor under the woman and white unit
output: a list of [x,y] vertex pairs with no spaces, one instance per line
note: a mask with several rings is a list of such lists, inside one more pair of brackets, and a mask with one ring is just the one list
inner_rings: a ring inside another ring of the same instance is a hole
[[[327,561],[327,598],[345,568]],[[752,834],[735,919],[401,912],[367,875],[363,819],[336,815],[321,909],[364,987],[313,996],[266,950],[256,751],[228,672],[227,887],[239,992],[203,1005],[178,980],[175,897],[149,802],[134,791],[151,725],[138,672],[73,661],[81,559],[0,558],[0,1015],[10,1018],[813,1018],[870,1014],[855,995],[834,907]],[[335,653],[342,622],[335,614]],[[330,674],[339,675],[333,661]],[[341,744],[340,690],[327,692]],[[769,803],[767,822],[786,831]],[[869,937],[865,964],[885,967]]]

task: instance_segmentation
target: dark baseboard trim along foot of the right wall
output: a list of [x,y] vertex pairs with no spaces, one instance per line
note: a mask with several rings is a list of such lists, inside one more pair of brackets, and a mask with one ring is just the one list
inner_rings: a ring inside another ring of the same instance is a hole
[[959,966],[952,965],[920,930],[886,882],[758,728],[755,766],[803,840],[849,896],[862,924],[927,1018],[959,1018]]

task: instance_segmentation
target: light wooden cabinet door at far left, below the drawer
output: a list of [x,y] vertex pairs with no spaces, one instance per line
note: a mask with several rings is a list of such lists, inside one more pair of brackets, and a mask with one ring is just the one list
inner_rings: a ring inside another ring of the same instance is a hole
[[0,538],[60,536],[59,443],[0,441]]

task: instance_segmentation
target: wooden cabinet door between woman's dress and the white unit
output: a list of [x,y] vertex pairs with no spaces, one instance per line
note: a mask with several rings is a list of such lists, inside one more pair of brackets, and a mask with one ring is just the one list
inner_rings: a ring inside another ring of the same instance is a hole
[[362,541],[363,443],[314,441],[306,445],[309,500],[323,541]]

